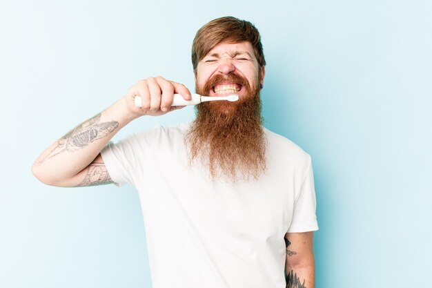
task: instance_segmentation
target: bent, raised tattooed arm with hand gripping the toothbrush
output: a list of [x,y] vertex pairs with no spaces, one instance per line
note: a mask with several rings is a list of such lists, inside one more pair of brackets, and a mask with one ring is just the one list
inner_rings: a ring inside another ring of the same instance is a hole
[[[33,175],[53,186],[112,183],[100,156],[104,146],[133,119],[175,110],[176,107],[170,107],[174,93],[190,99],[190,91],[185,86],[162,77],[138,81],[125,97],[79,124],[43,151],[32,166]],[[141,97],[141,107],[135,107],[135,96]]]

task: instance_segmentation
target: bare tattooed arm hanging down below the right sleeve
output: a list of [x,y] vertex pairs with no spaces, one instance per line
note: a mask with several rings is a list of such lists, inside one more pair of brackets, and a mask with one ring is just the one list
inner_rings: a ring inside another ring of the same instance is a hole
[[286,233],[286,288],[315,288],[313,231]]

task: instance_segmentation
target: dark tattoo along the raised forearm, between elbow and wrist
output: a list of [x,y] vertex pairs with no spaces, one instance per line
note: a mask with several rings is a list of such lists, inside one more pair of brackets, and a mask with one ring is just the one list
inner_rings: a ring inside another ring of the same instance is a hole
[[115,131],[119,126],[119,122],[100,122],[101,114],[88,119],[79,126],[69,131],[66,135],[60,138],[57,142],[57,147],[52,149],[48,155],[38,163],[39,165],[46,160],[59,155],[65,151],[74,152],[88,146],[88,144],[99,140],[106,135]]

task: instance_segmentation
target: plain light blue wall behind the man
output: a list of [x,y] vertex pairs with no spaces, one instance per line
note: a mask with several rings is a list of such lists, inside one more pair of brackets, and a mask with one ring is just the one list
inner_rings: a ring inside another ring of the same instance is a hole
[[[150,287],[135,190],[44,186],[30,166],[139,79],[193,88],[195,32],[226,15],[262,33],[265,126],[313,159],[316,287],[430,287],[431,11],[431,1],[1,0],[0,287]],[[115,140],[193,115],[143,117]]]

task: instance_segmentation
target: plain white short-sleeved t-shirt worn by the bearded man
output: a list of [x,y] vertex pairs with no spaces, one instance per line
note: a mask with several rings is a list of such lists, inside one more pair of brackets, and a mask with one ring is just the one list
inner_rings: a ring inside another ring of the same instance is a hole
[[135,186],[153,288],[284,288],[287,232],[318,229],[311,157],[264,129],[267,172],[237,185],[189,168],[188,124],[133,134],[101,155]]

